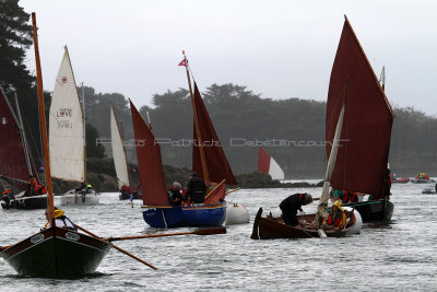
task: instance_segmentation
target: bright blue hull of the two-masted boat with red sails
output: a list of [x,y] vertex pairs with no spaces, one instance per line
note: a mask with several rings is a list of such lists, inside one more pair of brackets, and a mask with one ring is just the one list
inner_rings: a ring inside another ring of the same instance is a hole
[[226,202],[197,207],[155,208],[143,212],[145,223],[152,227],[220,226],[225,221]]

